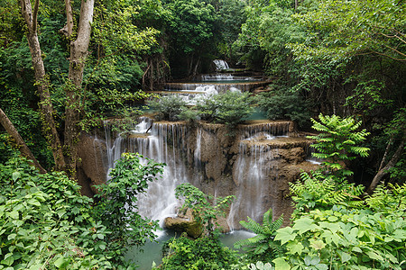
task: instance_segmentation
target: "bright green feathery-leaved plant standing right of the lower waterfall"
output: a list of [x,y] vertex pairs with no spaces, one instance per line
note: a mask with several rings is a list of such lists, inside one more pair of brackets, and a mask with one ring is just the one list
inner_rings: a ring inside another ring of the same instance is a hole
[[339,161],[353,160],[357,155],[367,157],[369,148],[357,146],[366,139],[370,133],[365,130],[356,131],[361,126],[361,121],[355,121],[353,117],[342,119],[337,115],[318,115],[319,122],[311,119],[312,128],[321,133],[316,136],[309,136],[309,139],[316,139],[312,144],[317,152],[312,153],[313,157],[322,158],[323,166],[328,170],[328,177],[337,177],[340,180],[353,172],[344,168]]

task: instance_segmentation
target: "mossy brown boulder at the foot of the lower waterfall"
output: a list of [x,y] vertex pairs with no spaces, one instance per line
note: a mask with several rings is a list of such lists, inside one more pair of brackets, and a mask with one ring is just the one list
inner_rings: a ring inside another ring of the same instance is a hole
[[175,218],[166,218],[164,220],[165,228],[173,229],[177,232],[186,232],[190,238],[198,238],[203,233],[201,223],[193,218],[191,210],[186,211],[184,215],[178,215]]

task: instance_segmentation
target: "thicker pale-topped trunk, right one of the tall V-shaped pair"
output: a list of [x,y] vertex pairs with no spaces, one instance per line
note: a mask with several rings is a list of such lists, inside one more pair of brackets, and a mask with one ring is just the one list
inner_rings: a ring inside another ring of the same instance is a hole
[[[67,1],[68,2],[68,1]],[[80,92],[82,89],[83,70],[88,57],[91,23],[93,22],[95,0],[82,0],[78,37],[70,42],[69,83],[66,85],[67,104],[65,109],[65,149],[68,153],[68,174],[76,177],[78,157],[78,121],[81,112]],[[69,23],[69,22],[68,22]]]

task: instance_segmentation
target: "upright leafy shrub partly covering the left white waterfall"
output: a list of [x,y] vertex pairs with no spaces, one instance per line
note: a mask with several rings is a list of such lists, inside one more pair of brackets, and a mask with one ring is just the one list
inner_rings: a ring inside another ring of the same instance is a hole
[[96,195],[100,202],[94,211],[94,219],[112,230],[108,243],[112,247],[143,245],[147,238],[153,240],[153,231],[158,228],[155,220],[140,216],[137,211],[137,195],[146,192],[148,182],[152,182],[163,172],[164,164],[146,159],[143,156],[124,153],[110,172],[108,184],[97,186]]

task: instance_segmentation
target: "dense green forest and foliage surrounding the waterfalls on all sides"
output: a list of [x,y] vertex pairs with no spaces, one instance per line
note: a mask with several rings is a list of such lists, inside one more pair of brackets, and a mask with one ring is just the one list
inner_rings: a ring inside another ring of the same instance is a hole
[[326,161],[291,184],[291,226],[242,221],[259,237],[244,255],[218,242],[219,207],[180,187],[208,235],[172,241],[158,267],[403,269],[405,14],[401,0],[0,0],[0,269],[135,267],[126,247],[157,224],[120,210],[164,165],[127,154],[81,196],[79,134],[136,119],[134,101],[214,59],[268,76],[255,103],[317,130]]

